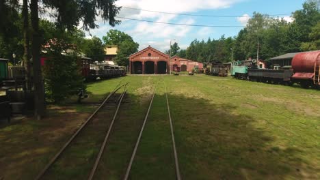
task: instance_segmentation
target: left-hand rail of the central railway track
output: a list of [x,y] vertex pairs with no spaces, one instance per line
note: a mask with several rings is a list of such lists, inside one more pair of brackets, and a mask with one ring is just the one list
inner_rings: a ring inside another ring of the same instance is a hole
[[148,119],[148,115],[149,115],[149,112],[150,112],[150,108],[152,106],[152,102],[153,102],[153,98],[155,97],[155,91],[158,87],[158,84],[159,84],[159,80],[157,82],[157,85],[155,87],[155,90],[153,90],[153,95],[152,95],[152,98],[150,100],[150,104],[149,104],[149,108],[146,112],[146,117],[144,117],[144,123],[142,124],[142,127],[141,127],[141,130],[139,132],[139,136],[137,138],[137,142],[135,143],[135,148],[133,149],[133,153],[131,155],[131,159],[130,159],[130,162],[129,162],[129,165],[128,167],[126,168],[126,174],[124,175],[124,180],[127,180],[129,178],[129,174],[130,174],[130,170],[131,170],[131,166],[133,164],[133,160],[135,159],[135,153],[137,153],[137,147],[139,146],[139,142],[140,142],[140,139],[141,139],[141,136],[142,136],[142,132],[144,132],[144,126],[146,125],[146,121]]

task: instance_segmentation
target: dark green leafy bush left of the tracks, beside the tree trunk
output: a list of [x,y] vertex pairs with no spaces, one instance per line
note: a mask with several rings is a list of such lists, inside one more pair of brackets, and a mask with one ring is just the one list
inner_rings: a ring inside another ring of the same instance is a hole
[[53,102],[61,102],[66,97],[76,94],[79,88],[85,89],[80,64],[76,55],[49,53],[44,65],[46,98]]

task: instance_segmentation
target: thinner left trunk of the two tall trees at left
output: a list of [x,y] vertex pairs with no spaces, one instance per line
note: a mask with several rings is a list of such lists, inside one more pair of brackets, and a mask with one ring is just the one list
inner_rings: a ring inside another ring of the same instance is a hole
[[28,0],[23,0],[23,65],[25,66],[25,80],[27,89],[31,90],[31,64],[30,64],[30,49],[29,49],[29,15],[28,15]]

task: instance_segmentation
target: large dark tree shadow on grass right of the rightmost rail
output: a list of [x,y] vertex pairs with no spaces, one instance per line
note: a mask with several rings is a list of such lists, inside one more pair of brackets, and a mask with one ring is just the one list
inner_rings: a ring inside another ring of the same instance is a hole
[[275,146],[279,137],[255,127],[261,120],[239,114],[239,107],[182,95],[169,99],[183,179],[317,179],[319,166],[306,168],[303,149]]

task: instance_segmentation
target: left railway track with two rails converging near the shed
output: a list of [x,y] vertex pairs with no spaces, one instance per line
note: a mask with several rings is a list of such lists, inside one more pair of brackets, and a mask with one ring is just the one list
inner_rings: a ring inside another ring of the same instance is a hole
[[[103,140],[103,144],[101,145],[101,150],[98,153],[98,157],[96,157],[96,162],[94,164],[94,168],[92,168],[92,172],[90,174],[90,178],[92,179],[94,172],[96,170],[96,164],[98,164],[98,161],[100,160],[101,154],[103,152],[103,149],[106,145],[107,139],[109,138],[109,134],[111,132],[111,129],[114,125],[114,121],[118,115],[118,111],[120,108],[120,105],[122,103],[122,100],[124,98],[124,95],[126,94],[126,85],[128,85],[129,82],[126,82],[124,85],[117,85],[117,87],[114,89],[114,91],[111,91],[111,93],[109,93],[109,95],[107,95],[107,97],[105,98],[105,100],[103,100],[103,102],[101,103],[100,106],[98,106],[98,108],[94,111],[94,113],[81,125],[81,127],[79,127],[79,129],[77,130],[77,132],[75,132],[75,134],[73,134],[71,136],[71,138],[66,142],[66,144],[64,144],[64,146],[62,147],[62,149],[60,149],[55,156],[49,161],[48,164],[46,164],[46,166],[44,166],[43,170],[38,174],[38,176],[36,177],[36,179],[42,179],[44,177],[44,175],[46,175],[46,173],[50,170],[51,166],[53,166],[53,164],[55,164],[55,162],[59,159],[59,157],[62,156],[62,154],[64,153],[64,151],[66,151],[66,149],[68,149],[68,147],[70,147],[70,144],[72,142],[74,142],[77,138],[80,138],[79,134],[80,132],[82,132],[83,130],[85,130],[85,128],[88,128],[88,124],[90,123],[90,121],[93,121],[93,119],[96,118],[96,115],[98,114],[98,112],[100,112],[101,110],[103,110],[103,108],[105,106],[114,106],[117,105],[116,108],[116,112],[114,113],[114,117],[111,121],[111,124],[109,125],[107,134],[105,136],[105,139]],[[117,93],[120,89],[123,88],[123,91],[121,94]]]

